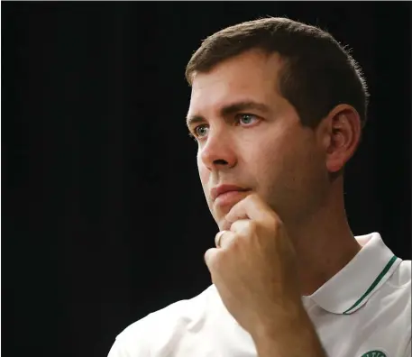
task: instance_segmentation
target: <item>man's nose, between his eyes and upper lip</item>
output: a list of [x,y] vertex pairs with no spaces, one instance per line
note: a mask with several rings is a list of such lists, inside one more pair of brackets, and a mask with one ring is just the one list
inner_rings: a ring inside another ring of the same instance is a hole
[[230,169],[236,165],[233,141],[224,130],[211,130],[206,143],[199,148],[199,157],[207,169]]

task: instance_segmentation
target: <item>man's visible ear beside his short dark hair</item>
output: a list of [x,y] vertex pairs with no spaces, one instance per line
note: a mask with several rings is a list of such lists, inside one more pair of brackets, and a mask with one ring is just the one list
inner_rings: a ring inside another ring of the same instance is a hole
[[320,135],[329,172],[343,169],[356,151],[361,133],[361,117],[351,105],[337,105],[325,117]]

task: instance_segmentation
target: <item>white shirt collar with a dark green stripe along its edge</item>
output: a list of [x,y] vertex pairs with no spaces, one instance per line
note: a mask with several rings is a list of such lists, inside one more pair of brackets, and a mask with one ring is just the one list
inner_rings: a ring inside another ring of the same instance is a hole
[[334,314],[349,315],[364,306],[401,262],[383,243],[380,233],[355,238],[362,245],[361,251],[333,278],[307,297]]

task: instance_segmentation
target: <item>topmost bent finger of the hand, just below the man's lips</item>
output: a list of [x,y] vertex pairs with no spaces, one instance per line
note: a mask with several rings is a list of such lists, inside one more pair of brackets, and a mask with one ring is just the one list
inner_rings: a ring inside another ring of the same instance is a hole
[[273,217],[273,215],[273,210],[261,199],[261,197],[257,195],[249,195],[234,205],[224,217],[224,220],[228,224],[233,224],[241,219],[261,221]]

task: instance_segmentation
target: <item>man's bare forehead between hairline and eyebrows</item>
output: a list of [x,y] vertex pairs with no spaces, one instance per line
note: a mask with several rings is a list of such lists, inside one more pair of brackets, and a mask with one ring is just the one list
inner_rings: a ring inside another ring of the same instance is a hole
[[206,73],[193,78],[188,114],[219,109],[236,101],[270,104],[277,93],[279,55],[252,50],[226,59]]

